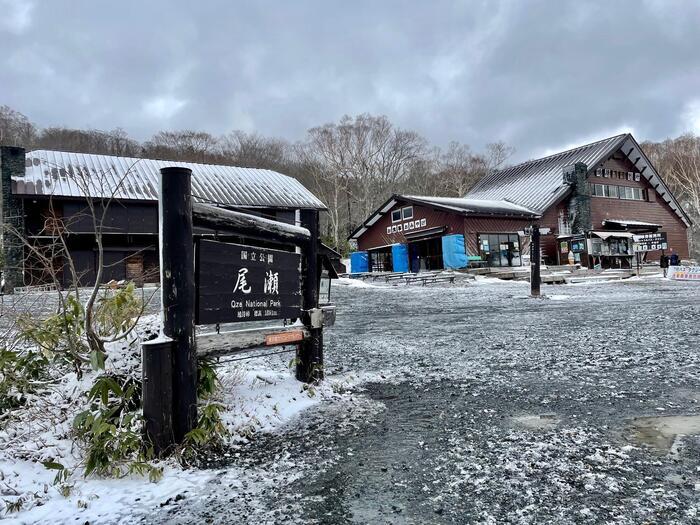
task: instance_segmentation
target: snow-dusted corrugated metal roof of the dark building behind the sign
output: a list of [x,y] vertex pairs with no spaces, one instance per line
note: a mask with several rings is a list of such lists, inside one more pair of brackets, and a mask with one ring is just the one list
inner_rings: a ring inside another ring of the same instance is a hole
[[155,201],[159,170],[167,166],[192,170],[192,195],[199,202],[326,209],[298,180],[272,170],[48,150],[27,152],[24,177],[12,178],[12,191],[20,195],[113,195],[116,199]]

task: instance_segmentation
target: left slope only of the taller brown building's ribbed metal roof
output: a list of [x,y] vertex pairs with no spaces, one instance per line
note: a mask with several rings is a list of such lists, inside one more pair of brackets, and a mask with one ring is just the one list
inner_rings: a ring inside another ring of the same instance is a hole
[[628,134],[586,144],[496,171],[484,177],[465,197],[468,199],[505,199],[543,213],[569,190],[564,184],[562,170],[577,162],[588,169],[605,160],[627,139]]

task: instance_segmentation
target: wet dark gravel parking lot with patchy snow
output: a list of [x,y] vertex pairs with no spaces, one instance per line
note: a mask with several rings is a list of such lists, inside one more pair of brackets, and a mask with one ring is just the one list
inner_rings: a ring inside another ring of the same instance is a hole
[[352,284],[335,394],[142,522],[700,520],[700,287]]

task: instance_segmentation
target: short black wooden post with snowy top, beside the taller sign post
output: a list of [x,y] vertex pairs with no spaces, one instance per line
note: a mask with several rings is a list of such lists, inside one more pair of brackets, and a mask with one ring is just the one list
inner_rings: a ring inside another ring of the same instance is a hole
[[168,453],[173,436],[173,340],[161,336],[141,345],[143,419],[157,457]]

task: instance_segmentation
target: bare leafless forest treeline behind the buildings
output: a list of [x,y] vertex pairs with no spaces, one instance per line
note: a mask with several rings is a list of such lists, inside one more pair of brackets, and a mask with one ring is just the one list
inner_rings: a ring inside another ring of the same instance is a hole
[[[257,133],[159,131],[140,142],[122,129],[41,128],[0,106],[0,143],[129,157],[267,168],[300,180],[327,206],[324,237],[345,252],[347,236],[392,193],[461,197],[489,171],[504,167],[514,149],[504,142],[473,151],[468,144],[431,145],[386,116],[344,116],[309,129],[297,142]],[[694,221],[700,248],[700,137],[683,134],[645,142],[644,151]]]

